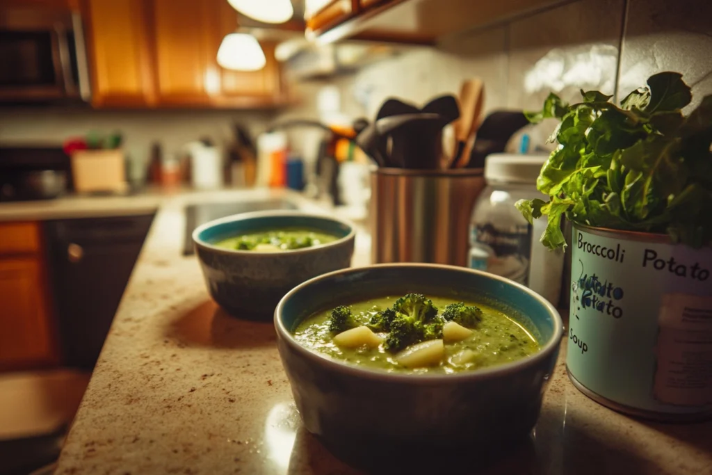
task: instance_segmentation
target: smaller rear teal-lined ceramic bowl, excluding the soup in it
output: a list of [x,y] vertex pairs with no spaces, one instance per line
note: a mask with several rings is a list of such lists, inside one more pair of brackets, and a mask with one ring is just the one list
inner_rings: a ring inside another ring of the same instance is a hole
[[[339,239],[305,249],[256,252],[224,249],[216,242],[266,229],[300,227]],[[193,243],[210,295],[232,315],[269,320],[294,286],[323,273],[347,268],[355,231],[345,221],[302,212],[268,211],[216,219],[193,231]]]

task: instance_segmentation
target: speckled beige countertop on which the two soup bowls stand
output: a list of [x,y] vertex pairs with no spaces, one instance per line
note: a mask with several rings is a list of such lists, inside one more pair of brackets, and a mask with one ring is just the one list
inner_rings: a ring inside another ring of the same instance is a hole
[[[182,256],[184,204],[218,197],[238,195],[157,202],[57,474],[361,473],[300,424],[272,323],[226,315]],[[355,265],[368,246],[357,237]],[[712,422],[612,412],[570,384],[560,358],[530,443],[479,473],[712,474]]]

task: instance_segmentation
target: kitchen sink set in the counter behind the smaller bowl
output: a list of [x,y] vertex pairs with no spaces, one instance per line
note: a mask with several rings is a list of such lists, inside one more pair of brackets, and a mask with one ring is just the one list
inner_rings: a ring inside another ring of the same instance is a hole
[[286,199],[261,199],[239,203],[191,204],[185,207],[183,255],[190,256],[194,254],[192,234],[194,229],[201,224],[233,214],[268,211],[270,209],[298,209],[298,207]]

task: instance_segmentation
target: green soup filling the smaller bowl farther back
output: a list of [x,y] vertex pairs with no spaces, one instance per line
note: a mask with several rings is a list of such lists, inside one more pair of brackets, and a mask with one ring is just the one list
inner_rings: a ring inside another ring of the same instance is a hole
[[312,229],[286,228],[241,234],[218,241],[214,245],[240,251],[278,252],[319,246],[337,239],[337,236]]

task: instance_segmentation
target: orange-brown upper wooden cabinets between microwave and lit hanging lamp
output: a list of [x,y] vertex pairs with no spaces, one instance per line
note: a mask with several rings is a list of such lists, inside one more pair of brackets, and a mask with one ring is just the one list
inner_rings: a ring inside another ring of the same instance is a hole
[[97,108],[261,108],[284,102],[274,45],[261,71],[217,63],[237,28],[226,0],[83,0]]

